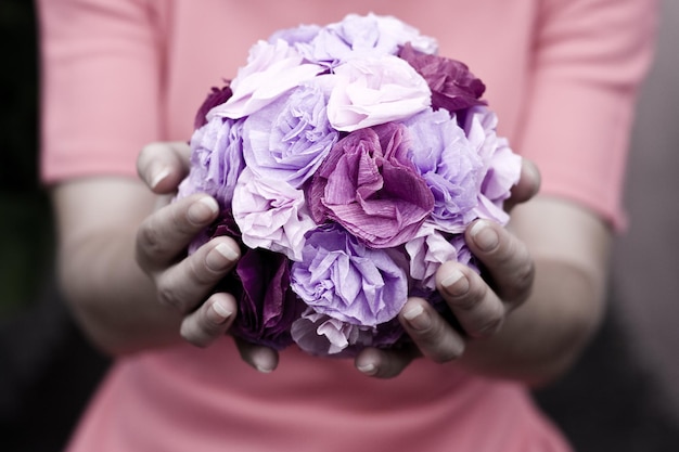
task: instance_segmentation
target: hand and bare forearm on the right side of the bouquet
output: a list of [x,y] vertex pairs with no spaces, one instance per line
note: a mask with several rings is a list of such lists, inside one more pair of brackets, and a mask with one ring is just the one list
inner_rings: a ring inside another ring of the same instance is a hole
[[[508,205],[531,198],[538,188],[536,168],[525,163]],[[538,198],[516,210],[507,229],[477,220],[466,230],[483,277],[458,262],[444,263],[436,274],[462,331],[424,299],[411,298],[399,320],[414,346],[366,349],[356,358],[359,371],[393,377],[426,357],[537,384],[568,366],[601,315],[608,232],[591,212],[555,199]]]

